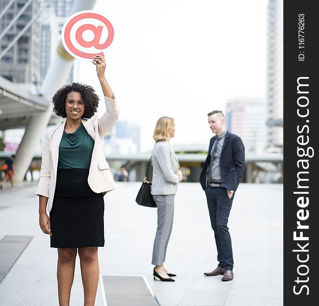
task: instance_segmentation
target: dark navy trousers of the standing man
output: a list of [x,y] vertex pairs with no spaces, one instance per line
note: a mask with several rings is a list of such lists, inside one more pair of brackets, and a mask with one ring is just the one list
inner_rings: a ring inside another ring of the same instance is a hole
[[210,186],[205,189],[205,193],[210,223],[215,233],[218,266],[232,271],[233,257],[227,223],[234,194],[229,198],[226,188]]

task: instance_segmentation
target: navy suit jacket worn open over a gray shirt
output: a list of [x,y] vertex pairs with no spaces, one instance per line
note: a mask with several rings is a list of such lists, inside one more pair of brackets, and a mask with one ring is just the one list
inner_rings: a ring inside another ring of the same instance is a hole
[[[199,182],[204,190],[207,187],[206,176],[210,163],[210,150],[215,139],[216,136],[210,139],[207,158],[199,177]],[[228,190],[235,191],[245,170],[245,147],[242,139],[229,131],[225,135],[221,152],[220,170],[222,185]]]

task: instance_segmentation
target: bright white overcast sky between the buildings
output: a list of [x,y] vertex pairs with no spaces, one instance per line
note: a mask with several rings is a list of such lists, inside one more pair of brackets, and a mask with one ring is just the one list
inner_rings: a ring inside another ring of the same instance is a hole
[[[229,98],[265,96],[267,3],[97,0],[114,27],[105,75],[119,120],[141,126],[142,151],[161,116],[175,119],[172,143],[208,144],[208,112]],[[81,61],[77,78],[102,96],[93,64]]]

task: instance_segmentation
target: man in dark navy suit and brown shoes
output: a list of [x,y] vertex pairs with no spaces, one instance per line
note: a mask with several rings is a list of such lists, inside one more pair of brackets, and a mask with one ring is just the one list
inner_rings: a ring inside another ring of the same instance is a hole
[[245,170],[245,147],[240,137],[226,130],[221,111],[212,111],[208,123],[212,133],[200,184],[205,191],[211,227],[215,233],[218,267],[206,276],[223,275],[222,281],[233,279],[233,257],[227,222],[235,191]]

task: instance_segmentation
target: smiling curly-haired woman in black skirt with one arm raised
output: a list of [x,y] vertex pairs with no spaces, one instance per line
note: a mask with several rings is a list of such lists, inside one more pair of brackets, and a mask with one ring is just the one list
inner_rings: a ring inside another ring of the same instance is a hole
[[50,246],[58,249],[60,306],[70,302],[77,253],[84,304],[94,305],[99,279],[97,249],[104,246],[103,195],[116,187],[101,140],[118,119],[119,109],[104,77],[105,59],[96,55],[92,62],[107,110],[97,117],[99,98],[91,86],[73,83],[56,92],[54,112],[66,121],[46,133],[36,193],[41,230],[50,235]]

